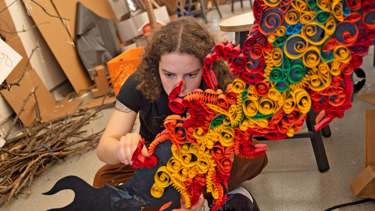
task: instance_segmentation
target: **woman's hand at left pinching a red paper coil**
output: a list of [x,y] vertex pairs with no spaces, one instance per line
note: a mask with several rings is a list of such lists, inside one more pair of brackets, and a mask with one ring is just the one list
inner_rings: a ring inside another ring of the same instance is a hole
[[[132,155],[141,142],[142,137],[138,133],[128,133],[120,138],[116,145],[116,152],[121,163],[132,164]],[[146,146],[143,146],[141,153],[143,156],[148,156]]]

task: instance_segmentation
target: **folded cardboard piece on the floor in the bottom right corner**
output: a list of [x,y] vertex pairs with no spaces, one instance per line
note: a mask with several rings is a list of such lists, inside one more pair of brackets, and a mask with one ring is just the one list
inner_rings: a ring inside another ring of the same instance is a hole
[[375,199],[375,167],[367,166],[349,187],[356,198]]

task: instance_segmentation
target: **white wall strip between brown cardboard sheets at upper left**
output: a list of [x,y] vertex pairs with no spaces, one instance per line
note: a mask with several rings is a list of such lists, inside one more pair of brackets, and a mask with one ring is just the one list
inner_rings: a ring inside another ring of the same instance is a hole
[[[10,5],[10,3],[13,1],[14,0],[5,0],[5,3],[6,5]],[[26,8],[21,0],[18,0],[17,3],[14,3],[8,8],[10,16],[13,19],[13,23],[17,31],[29,29],[34,25],[34,21],[30,16],[27,15]],[[30,56],[32,49],[37,46],[37,40],[39,40],[45,65],[42,63],[40,51],[34,52],[30,59],[30,64],[42,79],[48,90],[53,89],[55,86],[67,79],[65,73],[53,56],[51,50],[48,48],[48,45],[44,41],[37,27],[27,32],[18,33],[18,36],[21,38],[21,42],[26,50],[27,56]],[[0,124],[3,123],[10,115],[12,115],[12,113],[12,108],[7,104],[5,99],[3,99],[3,96],[0,95]]]

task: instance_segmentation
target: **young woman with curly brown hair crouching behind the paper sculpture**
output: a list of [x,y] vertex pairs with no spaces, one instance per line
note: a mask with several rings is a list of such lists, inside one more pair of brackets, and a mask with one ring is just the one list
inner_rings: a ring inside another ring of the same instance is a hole
[[[150,144],[164,129],[163,120],[175,114],[168,107],[168,95],[178,81],[183,80],[181,95],[197,88],[208,89],[202,78],[202,64],[216,43],[207,28],[192,17],[178,18],[154,32],[137,71],[130,75],[116,96],[115,110],[97,149],[98,158],[107,164],[96,173],[94,187],[102,187],[105,183],[124,183],[134,175],[130,159],[140,140],[144,138],[146,145]],[[233,80],[228,67],[224,62],[216,61],[212,69],[217,77],[217,89],[226,90],[226,85]],[[131,133],[138,112],[140,130],[139,133]],[[185,115],[186,112],[181,114]],[[259,143],[255,139],[252,141],[253,144]],[[148,155],[146,147],[142,149],[142,154]],[[236,156],[228,191],[257,176],[267,162],[266,154],[252,160]],[[207,194],[206,197],[211,196]],[[184,208],[182,201],[179,210],[196,210],[203,201],[201,196],[190,209]]]

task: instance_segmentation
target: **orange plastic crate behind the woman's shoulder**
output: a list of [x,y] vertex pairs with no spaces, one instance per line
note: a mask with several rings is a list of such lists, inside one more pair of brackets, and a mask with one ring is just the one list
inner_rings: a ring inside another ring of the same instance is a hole
[[136,71],[139,63],[141,63],[142,51],[144,51],[144,47],[132,48],[107,62],[108,72],[110,72],[112,83],[117,75],[124,70],[113,84],[115,95],[118,94],[122,84],[133,72]]

